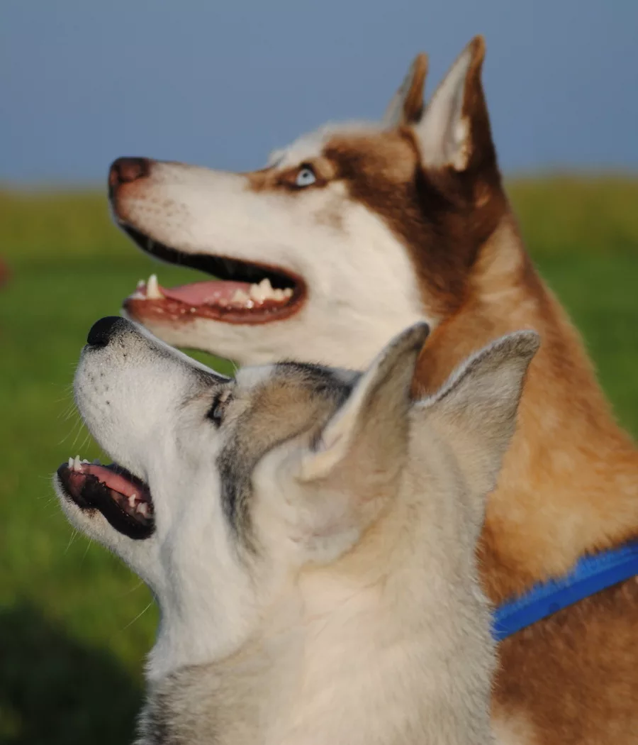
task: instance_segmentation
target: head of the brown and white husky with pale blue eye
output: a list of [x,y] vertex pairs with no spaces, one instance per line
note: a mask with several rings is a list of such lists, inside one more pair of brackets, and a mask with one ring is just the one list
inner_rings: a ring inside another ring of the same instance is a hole
[[484,51],[477,37],[425,109],[420,55],[383,121],[326,125],[261,171],[118,159],[119,225],[147,253],[217,277],[168,289],[153,276],[125,312],[241,364],[363,367],[406,326],[441,323],[503,211]]

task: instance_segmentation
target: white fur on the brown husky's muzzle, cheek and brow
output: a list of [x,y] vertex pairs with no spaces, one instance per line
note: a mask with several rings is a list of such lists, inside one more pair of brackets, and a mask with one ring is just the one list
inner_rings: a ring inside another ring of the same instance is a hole
[[[347,130],[362,127],[352,124]],[[334,127],[275,157],[281,165],[304,162],[329,133]],[[405,247],[380,216],[348,197],[342,183],[296,194],[255,192],[238,174],[156,163],[144,188],[126,197],[126,215],[154,240],[185,253],[266,262],[306,282],[304,306],[286,320],[254,326],[202,317],[188,323],[144,320],[176,346],[240,364],[301,355],[364,367],[406,326],[419,320],[436,325],[436,317],[424,309]]]

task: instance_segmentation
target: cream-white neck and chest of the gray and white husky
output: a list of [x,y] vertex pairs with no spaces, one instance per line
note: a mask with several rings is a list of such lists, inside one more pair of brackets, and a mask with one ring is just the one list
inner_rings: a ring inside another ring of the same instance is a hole
[[491,743],[476,526],[441,540],[446,522],[392,514],[338,574],[304,570],[259,638],[153,682],[138,745]]

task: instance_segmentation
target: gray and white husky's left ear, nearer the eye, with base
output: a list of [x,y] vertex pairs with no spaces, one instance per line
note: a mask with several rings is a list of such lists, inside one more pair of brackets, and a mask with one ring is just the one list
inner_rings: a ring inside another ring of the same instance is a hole
[[395,492],[408,458],[412,377],[429,330],[418,323],[395,337],[319,434],[293,444],[276,466],[273,481],[296,494],[278,504],[302,561],[348,551]]

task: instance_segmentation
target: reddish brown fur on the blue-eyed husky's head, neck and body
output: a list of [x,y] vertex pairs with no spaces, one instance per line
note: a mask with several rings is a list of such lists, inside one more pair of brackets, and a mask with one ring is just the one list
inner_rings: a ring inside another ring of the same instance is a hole
[[[482,39],[471,49],[464,170],[423,168],[408,126],[335,136],[312,165],[319,186],[345,181],[351,198],[382,215],[409,251],[426,314],[439,321],[418,364],[418,393],[436,389],[495,337],[541,334],[480,548],[485,590],[498,602],[564,574],[587,552],[638,536],[638,454],[523,248],[491,138]],[[415,110],[412,90],[408,99]],[[296,170],[255,174],[254,186],[290,187]],[[495,720],[522,722],[512,725],[525,733],[520,741],[538,745],[638,741],[637,629],[638,585],[629,580],[509,638]]]

